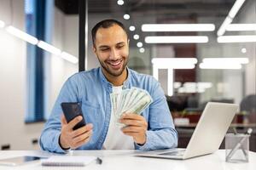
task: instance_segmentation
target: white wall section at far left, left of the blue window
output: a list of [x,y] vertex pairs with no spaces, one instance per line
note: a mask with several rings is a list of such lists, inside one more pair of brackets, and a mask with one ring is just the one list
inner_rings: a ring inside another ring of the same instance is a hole
[[[9,0],[0,0],[0,20],[24,30],[24,2],[13,3],[10,18]],[[26,115],[26,42],[0,29],[0,145],[11,150],[33,150],[43,123],[25,124]]]

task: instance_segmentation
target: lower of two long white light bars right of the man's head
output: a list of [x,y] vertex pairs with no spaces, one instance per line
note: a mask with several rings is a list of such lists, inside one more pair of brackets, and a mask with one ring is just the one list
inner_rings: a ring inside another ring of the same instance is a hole
[[146,43],[206,43],[207,36],[151,36],[145,37]]

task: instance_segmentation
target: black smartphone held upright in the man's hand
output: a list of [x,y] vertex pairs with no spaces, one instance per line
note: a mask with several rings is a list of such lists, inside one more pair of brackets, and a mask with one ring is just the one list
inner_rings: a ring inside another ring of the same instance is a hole
[[81,109],[81,105],[79,102],[63,102],[61,103],[62,111],[66,117],[67,122],[70,122],[73,120],[73,118],[77,116],[82,116],[83,120],[80,121],[78,124],[76,124],[73,127],[73,130],[78,129],[79,127],[84,127],[86,125],[83,112]]

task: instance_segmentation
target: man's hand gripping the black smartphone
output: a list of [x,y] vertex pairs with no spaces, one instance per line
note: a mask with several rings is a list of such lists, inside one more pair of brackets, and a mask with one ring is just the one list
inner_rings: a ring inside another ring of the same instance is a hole
[[63,114],[61,115],[61,148],[76,149],[90,140],[93,127],[91,123],[73,130],[73,127],[82,121],[82,119],[82,116],[77,116],[71,122],[67,123],[65,116]]

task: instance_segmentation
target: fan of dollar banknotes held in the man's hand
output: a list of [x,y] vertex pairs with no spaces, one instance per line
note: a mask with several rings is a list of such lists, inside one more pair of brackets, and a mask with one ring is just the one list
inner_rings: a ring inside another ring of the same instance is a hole
[[153,101],[141,88],[130,88],[110,94],[113,115],[119,120],[123,113],[141,114]]

